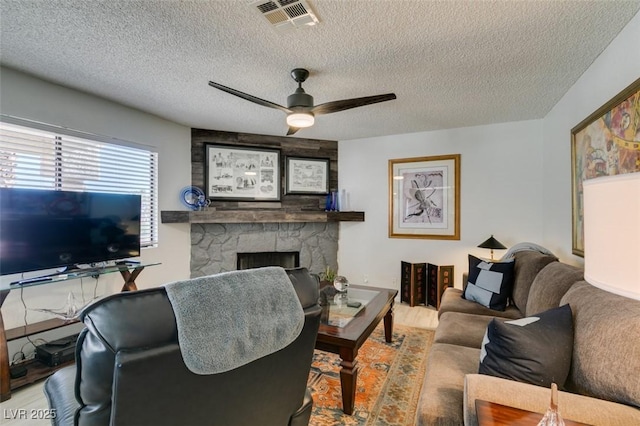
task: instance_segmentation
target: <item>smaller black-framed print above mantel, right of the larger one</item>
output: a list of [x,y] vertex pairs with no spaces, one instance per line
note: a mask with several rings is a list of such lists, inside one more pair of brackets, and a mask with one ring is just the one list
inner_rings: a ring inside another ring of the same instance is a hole
[[329,159],[287,157],[285,166],[287,194],[329,193]]

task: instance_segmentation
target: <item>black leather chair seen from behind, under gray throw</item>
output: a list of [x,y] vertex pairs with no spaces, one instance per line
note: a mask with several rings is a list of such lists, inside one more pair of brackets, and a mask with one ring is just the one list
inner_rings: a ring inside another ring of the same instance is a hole
[[[318,281],[287,270],[305,313],[293,343],[234,370],[187,369],[163,287],[108,296],[82,314],[76,365],[47,379],[54,425],[307,425]],[[226,342],[220,342],[224,345]]]

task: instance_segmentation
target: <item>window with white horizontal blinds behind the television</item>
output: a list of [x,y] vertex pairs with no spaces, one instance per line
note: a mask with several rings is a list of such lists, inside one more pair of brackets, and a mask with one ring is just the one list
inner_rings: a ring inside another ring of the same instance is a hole
[[158,242],[158,154],[0,122],[0,187],[142,196],[141,247]]

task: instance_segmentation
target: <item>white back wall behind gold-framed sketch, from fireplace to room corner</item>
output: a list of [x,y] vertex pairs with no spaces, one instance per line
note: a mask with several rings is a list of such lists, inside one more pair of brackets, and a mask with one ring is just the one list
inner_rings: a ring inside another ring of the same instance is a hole
[[[542,243],[541,137],[542,123],[532,120],[340,141],[340,184],[365,222],[340,224],[338,272],[397,289],[401,261],[454,265],[460,287],[467,255],[488,257],[477,245],[491,234],[507,246]],[[461,155],[460,240],[389,238],[389,160],[446,154]]]

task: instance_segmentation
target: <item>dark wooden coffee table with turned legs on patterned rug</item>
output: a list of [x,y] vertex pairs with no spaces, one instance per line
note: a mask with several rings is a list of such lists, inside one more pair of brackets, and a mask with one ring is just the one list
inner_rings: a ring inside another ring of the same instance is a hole
[[352,285],[349,286],[347,294],[349,301],[360,301],[363,306],[359,309],[353,308],[352,312],[355,315],[351,315],[346,306],[336,305],[333,301],[330,305],[324,306],[316,349],[340,355],[342,410],[345,414],[353,414],[358,378],[358,350],[382,319],[385,340],[391,342],[393,301],[398,291]]

